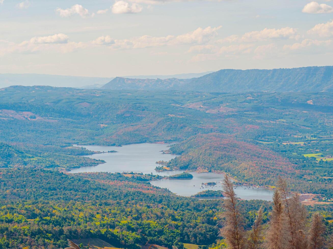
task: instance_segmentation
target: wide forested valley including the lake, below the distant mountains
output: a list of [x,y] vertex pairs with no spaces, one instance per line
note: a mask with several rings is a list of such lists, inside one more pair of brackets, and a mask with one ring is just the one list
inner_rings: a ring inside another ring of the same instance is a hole
[[[12,86],[0,91],[0,110],[5,248],[49,246],[50,237],[60,248],[66,238],[223,248],[225,173],[246,229],[260,206],[268,221],[279,176],[314,196],[307,212],[333,229],[330,93]],[[183,172],[192,178],[164,178]]]

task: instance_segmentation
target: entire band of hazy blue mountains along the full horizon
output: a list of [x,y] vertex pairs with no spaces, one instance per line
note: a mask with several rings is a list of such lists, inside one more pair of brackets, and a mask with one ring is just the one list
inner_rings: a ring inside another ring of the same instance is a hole
[[116,78],[47,74],[0,74],[0,86],[7,87],[10,85],[48,85],[110,90],[333,92],[333,66],[270,70],[222,69],[216,72],[205,73],[141,75]]

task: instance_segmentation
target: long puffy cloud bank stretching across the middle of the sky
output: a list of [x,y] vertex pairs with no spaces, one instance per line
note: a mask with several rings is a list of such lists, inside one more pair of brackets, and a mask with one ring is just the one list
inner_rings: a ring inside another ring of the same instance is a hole
[[146,47],[158,47],[166,45],[181,45],[181,44],[204,44],[210,41],[217,35],[217,30],[221,27],[205,29],[197,28],[196,30],[179,35],[168,35],[165,37],[141,36],[124,40],[112,40],[110,36],[102,36],[92,41],[93,44],[110,44],[114,49],[136,49]]

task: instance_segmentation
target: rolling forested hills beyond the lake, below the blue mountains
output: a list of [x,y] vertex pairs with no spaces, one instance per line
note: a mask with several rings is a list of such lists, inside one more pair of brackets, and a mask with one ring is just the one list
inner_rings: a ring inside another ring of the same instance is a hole
[[[0,91],[0,141],[31,155],[21,164],[66,169],[101,163],[72,144],[178,142],[169,168],[259,185],[280,175],[292,190],[332,197],[332,106],[331,93],[14,86]],[[303,156],[312,153],[322,159]]]

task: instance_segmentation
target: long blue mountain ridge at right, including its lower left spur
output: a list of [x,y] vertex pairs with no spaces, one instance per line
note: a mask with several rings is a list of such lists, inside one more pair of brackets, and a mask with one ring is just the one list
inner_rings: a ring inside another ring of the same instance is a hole
[[192,79],[116,77],[103,86],[113,90],[195,90],[209,92],[333,92],[333,66],[271,70],[222,69]]

